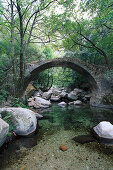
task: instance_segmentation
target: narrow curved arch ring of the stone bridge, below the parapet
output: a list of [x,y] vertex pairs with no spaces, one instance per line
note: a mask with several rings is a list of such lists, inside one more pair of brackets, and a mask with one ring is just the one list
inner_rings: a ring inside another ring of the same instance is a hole
[[24,90],[27,88],[28,84],[31,81],[36,80],[37,75],[40,72],[43,72],[46,69],[49,68],[53,68],[53,67],[66,67],[66,68],[70,68],[78,73],[80,73],[83,77],[85,77],[85,79],[87,80],[87,82],[89,83],[90,89],[92,92],[97,92],[98,91],[98,85],[97,82],[95,80],[95,78],[92,76],[92,74],[89,72],[89,70],[87,70],[86,68],[84,68],[82,65],[72,62],[72,61],[67,61],[67,60],[59,60],[55,59],[55,60],[49,60],[49,61],[44,61],[44,62],[40,62],[38,64],[35,64],[35,68],[32,69],[30,71],[29,76],[26,77],[25,79],[25,87]]

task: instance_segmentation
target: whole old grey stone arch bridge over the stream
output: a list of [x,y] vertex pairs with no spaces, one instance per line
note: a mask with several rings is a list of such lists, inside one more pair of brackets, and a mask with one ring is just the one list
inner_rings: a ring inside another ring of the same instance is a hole
[[27,65],[27,76],[24,81],[24,91],[28,84],[36,79],[37,74],[51,67],[68,67],[83,75],[92,90],[91,104],[100,103],[102,97],[111,93],[109,83],[104,79],[107,70],[104,66],[88,64],[78,58],[55,58],[51,60],[34,61]]

